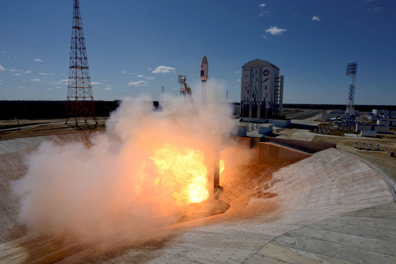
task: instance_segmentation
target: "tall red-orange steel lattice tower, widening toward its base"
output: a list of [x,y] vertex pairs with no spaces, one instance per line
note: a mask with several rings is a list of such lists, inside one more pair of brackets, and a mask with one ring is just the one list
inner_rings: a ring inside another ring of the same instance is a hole
[[67,89],[66,123],[74,118],[76,125],[81,119],[87,123],[92,117],[96,123],[94,97],[90,70],[81,23],[79,0],[73,0],[73,29],[71,34],[69,83]]

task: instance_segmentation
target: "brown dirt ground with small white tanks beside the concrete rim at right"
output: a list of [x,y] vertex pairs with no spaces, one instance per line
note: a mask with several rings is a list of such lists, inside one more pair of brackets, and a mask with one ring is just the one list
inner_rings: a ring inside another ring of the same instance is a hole
[[[396,135],[380,134],[381,138],[368,137],[326,137],[315,136],[313,141],[326,141],[337,143],[337,148],[356,157],[362,158],[369,163],[377,166],[385,174],[396,181],[396,158],[390,157],[391,152],[396,152]],[[353,142],[358,143],[358,148],[353,148]],[[364,150],[360,150],[360,143],[364,142]],[[368,143],[373,144],[371,151],[367,150]],[[374,151],[375,144],[380,144],[380,151]]]

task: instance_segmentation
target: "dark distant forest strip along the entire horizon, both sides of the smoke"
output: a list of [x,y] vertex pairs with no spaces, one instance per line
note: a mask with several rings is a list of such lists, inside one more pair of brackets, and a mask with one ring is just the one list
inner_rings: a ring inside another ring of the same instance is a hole
[[[109,116],[121,101],[95,101],[97,116]],[[158,102],[153,106],[158,107]],[[239,105],[239,103],[234,103]],[[313,105],[313,104],[283,104],[284,108],[300,109],[344,109],[345,105]],[[371,112],[372,109],[396,110],[396,106],[369,106],[355,105],[359,111]],[[0,101],[0,119],[40,119],[40,118],[64,118],[66,116],[66,101]]]

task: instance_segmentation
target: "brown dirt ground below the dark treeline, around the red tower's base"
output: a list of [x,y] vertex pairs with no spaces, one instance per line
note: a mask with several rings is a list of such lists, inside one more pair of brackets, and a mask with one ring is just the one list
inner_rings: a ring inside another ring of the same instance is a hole
[[104,129],[107,117],[98,117],[98,124],[89,119],[87,123],[83,120],[76,126],[73,120],[65,124],[64,118],[59,119],[21,119],[0,120],[0,140],[13,138],[23,138],[31,136],[50,135],[58,133],[68,133],[83,130]]

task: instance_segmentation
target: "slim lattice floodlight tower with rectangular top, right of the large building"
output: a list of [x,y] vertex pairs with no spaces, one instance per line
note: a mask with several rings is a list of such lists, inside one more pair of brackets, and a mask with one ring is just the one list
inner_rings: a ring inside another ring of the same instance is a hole
[[347,76],[350,76],[349,82],[349,94],[347,109],[345,110],[344,121],[341,126],[341,130],[345,128],[345,131],[351,131],[351,128],[355,124],[355,85],[356,85],[356,71],[357,62],[351,62],[347,64]]

